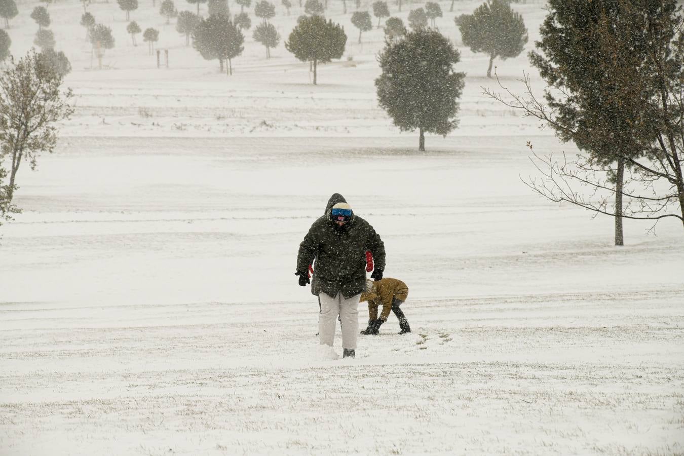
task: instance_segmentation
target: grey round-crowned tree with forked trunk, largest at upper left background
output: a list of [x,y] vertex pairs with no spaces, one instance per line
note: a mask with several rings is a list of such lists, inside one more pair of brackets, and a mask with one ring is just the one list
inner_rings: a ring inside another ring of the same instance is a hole
[[209,16],[202,20],[193,33],[192,46],[207,60],[218,59],[226,75],[233,74],[232,59],[244,51],[245,37],[225,14]]

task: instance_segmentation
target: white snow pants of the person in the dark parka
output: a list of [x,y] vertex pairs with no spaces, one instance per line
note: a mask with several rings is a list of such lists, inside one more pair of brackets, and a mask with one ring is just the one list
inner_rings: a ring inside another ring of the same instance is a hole
[[358,301],[361,295],[345,299],[342,293],[331,297],[326,293],[319,293],[321,313],[318,315],[318,337],[321,345],[330,345],[335,339],[337,315],[342,321],[342,348],[356,350],[358,337]]

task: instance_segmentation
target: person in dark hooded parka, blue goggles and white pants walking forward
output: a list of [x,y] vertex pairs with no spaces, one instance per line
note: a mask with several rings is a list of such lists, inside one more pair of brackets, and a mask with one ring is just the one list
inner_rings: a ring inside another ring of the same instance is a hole
[[358,302],[365,291],[366,252],[371,252],[375,269],[371,278],[382,279],[384,244],[371,224],[354,214],[347,201],[334,193],[323,217],[319,217],[300,243],[297,256],[299,284],[310,283],[308,267],[314,260],[311,293],[318,297],[319,343],[332,347],[335,321],[342,325],[343,357],[356,354]]

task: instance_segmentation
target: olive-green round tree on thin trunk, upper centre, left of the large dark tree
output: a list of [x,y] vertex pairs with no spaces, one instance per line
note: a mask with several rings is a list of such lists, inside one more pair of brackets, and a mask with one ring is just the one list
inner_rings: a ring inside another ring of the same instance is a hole
[[347,35],[341,25],[333,24],[332,21],[326,22],[324,18],[317,15],[302,16],[285,42],[285,49],[302,62],[313,62],[315,85],[318,62],[326,63],[332,59],[341,58],[346,43]]

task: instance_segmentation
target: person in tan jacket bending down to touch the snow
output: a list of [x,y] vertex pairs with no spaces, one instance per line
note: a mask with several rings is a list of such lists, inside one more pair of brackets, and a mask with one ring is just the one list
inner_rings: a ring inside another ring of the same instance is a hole
[[[408,297],[408,286],[399,279],[385,277],[380,280],[367,280],[366,291],[361,293],[360,301],[368,301],[368,327],[361,334],[378,334],[380,325],[387,321],[392,311],[399,319],[399,334],[411,332],[406,316],[399,308]],[[378,306],[382,313],[378,317]]]

